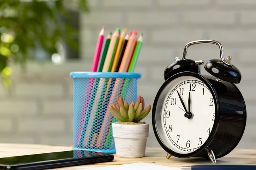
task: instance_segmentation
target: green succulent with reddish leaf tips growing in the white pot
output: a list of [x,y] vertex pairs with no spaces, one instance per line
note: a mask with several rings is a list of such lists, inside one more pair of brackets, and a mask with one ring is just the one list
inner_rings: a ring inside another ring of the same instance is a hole
[[122,96],[117,97],[117,104],[109,106],[110,112],[121,122],[139,122],[150,112],[151,105],[144,108],[144,99],[137,97],[136,103],[132,101],[128,104]]

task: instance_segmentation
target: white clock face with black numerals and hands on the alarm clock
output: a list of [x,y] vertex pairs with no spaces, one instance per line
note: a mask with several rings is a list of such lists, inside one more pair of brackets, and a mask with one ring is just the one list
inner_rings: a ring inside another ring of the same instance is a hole
[[155,121],[166,147],[189,154],[206,143],[216,112],[211,91],[206,81],[192,75],[178,76],[160,90]]

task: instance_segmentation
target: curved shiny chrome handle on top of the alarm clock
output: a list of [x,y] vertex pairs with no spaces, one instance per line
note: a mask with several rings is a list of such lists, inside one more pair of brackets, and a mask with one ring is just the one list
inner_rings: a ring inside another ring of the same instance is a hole
[[[228,65],[228,66],[232,66],[232,65],[231,65],[230,63],[228,63],[228,62],[225,60],[225,58],[224,58],[223,47],[222,47],[221,43],[218,42],[218,41],[209,40],[209,39],[196,40],[196,41],[191,41],[191,42],[187,43],[187,44],[185,45],[185,48],[184,48],[184,51],[183,51],[183,57],[182,57],[182,59],[186,59],[187,48],[189,48],[190,45],[202,44],[202,43],[210,43],[210,44],[216,44],[216,45],[218,45],[219,48],[220,48],[220,59],[221,59],[221,61],[222,61],[224,64]],[[228,60],[228,59],[227,59],[227,60]]]

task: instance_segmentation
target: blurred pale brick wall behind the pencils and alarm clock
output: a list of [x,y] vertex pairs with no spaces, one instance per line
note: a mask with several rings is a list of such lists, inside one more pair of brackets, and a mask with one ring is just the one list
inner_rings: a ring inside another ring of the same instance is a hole
[[[163,70],[182,56],[186,43],[218,40],[225,58],[242,73],[237,84],[247,107],[247,124],[239,148],[256,148],[256,1],[255,0],[89,0],[90,13],[81,15],[81,56],[62,65],[28,63],[27,71],[14,65],[10,93],[0,90],[0,142],[72,144],[73,84],[71,71],[90,71],[97,35],[116,27],[144,33],[135,72],[142,73],[138,94],[146,104],[164,82]],[[212,44],[191,46],[187,58],[208,61],[219,57]],[[207,74],[202,67],[202,74]],[[145,119],[151,124],[151,114]],[[159,146],[150,127],[148,146]]]

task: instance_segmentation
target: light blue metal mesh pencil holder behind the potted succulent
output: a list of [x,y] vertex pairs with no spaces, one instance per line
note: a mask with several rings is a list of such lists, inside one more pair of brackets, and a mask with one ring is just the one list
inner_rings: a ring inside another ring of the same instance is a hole
[[139,73],[71,72],[73,78],[73,149],[115,153],[109,111],[122,96],[128,103],[137,99]]

